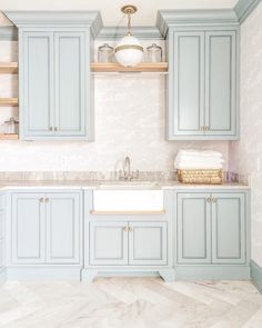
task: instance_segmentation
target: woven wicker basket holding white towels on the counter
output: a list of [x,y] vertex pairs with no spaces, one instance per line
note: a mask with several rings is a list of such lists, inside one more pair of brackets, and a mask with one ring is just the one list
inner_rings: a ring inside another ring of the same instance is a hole
[[221,185],[222,170],[178,170],[182,183]]

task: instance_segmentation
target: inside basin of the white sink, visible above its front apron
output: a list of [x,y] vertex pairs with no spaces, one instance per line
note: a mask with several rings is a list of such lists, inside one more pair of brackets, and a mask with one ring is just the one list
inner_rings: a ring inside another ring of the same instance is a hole
[[99,189],[104,190],[152,190],[160,189],[158,182],[154,181],[118,181],[118,182],[103,182],[98,186]]

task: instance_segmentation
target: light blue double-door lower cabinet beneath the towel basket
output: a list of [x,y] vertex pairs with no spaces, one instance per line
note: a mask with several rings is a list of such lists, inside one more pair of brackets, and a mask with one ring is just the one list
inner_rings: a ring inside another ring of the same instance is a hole
[[245,195],[178,193],[178,264],[246,264]]

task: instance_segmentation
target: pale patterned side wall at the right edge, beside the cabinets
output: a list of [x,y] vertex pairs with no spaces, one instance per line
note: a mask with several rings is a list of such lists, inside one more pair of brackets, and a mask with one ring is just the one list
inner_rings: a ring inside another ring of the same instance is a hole
[[241,141],[230,145],[231,169],[252,187],[252,258],[262,266],[262,2],[241,27]]

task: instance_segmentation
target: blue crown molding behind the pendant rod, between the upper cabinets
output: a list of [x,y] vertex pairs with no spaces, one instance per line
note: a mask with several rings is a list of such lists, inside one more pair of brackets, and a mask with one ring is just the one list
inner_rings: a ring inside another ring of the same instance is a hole
[[[133,27],[132,33],[139,39],[163,39],[157,27]],[[125,27],[103,27],[98,36],[98,39],[118,40],[123,38],[125,34]]]

